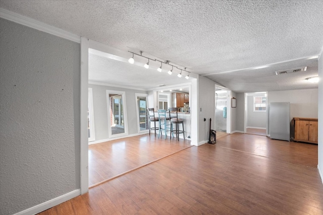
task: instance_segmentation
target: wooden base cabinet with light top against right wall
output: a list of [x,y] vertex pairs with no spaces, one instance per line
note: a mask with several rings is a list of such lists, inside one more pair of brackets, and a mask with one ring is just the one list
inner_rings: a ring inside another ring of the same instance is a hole
[[318,121],[315,118],[294,117],[295,141],[318,143]]

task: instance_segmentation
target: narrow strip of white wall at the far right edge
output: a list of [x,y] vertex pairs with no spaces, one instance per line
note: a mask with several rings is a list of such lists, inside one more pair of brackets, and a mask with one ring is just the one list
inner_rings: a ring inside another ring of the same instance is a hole
[[318,168],[323,183],[323,56],[318,60]]

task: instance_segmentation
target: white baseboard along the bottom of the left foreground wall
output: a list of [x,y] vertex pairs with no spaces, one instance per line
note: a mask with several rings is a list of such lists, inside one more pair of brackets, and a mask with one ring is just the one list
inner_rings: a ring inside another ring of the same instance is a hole
[[23,211],[20,211],[18,213],[15,213],[15,215],[30,215],[30,214],[36,214],[36,213],[40,213],[41,211],[47,210],[53,206],[56,206],[58,204],[61,204],[67,200],[70,200],[76,196],[81,195],[81,189],[78,190],[74,190],[72,192],[66,193],[62,196],[53,198],[49,201],[43,202],[41,204],[38,204],[36,206],[30,207],[28,209],[25,209]]

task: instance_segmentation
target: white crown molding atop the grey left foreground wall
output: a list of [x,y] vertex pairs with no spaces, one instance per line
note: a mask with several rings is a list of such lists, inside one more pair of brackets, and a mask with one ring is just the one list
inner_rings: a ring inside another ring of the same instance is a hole
[[34,28],[36,30],[43,31],[43,32],[46,32],[46,33],[49,33],[49,34],[52,34],[55,36],[59,36],[59,37],[71,40],[73,42],[81,43],[81,37],[76,34],[72,34],[68,31],[47,25],[47,24],[40,22],[38,20],[22,16],[20,14],[8,11],[3,8],[0,8],[0,18],[7,19],[9,21],[16,22],[18,24],[25,25],[30,28]]

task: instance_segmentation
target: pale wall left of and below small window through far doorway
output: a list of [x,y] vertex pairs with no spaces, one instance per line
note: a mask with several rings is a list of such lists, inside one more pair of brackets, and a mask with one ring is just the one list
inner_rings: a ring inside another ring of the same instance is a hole
[[247,96],[247,127],[266,128],[266,112],[253,112],[253,95]]

